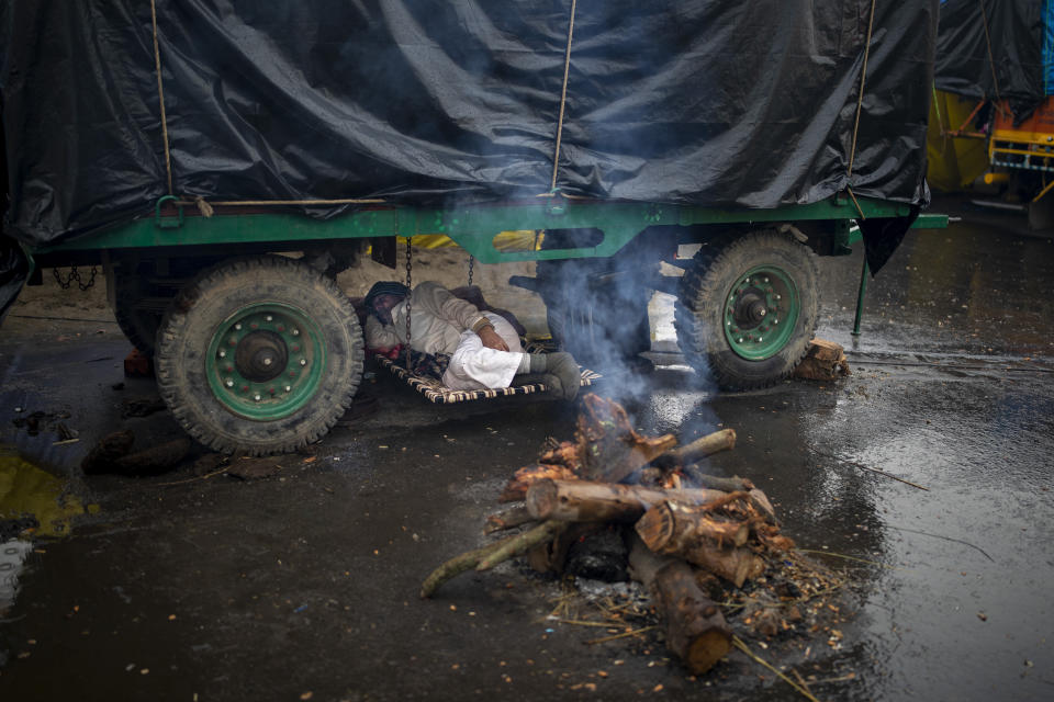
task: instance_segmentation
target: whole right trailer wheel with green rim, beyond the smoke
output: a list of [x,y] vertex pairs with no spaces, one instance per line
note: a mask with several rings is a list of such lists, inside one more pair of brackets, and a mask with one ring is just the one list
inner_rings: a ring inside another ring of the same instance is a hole
[[816,331],[817,257],[789,235],[754,231],[704,246],[681,279],[677,342],[726,389],[790,375]]

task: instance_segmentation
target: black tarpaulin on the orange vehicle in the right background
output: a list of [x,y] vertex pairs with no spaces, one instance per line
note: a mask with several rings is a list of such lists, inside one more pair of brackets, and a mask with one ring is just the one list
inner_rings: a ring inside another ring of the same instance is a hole
[[948,0],[937,38],[938,90],[980,100],[1002,99],[1016,115],[1046,97],[1049,2]]

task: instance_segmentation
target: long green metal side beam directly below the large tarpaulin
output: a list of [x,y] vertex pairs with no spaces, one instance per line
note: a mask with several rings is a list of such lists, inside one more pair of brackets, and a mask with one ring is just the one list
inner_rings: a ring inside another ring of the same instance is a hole
[[[456,210],[428,207],[371,207],[329,219],[300,214],[221,214],[200,216],[197,208],[165,197],[154,217],[143,217],[98,234],[36,249],[38,253],[99,249],[150,249],[180,246],[232,246],[239,244],[295,245],[300,241],[362,237],[445,234],[482,263],[537,261],[612,256],[643,229],[653,225],[749,224],[831,219],[848,223],[860,215],[850,200],[831,197],[770,210],[714,208],[658,203],[594,202],[561,196],[538,202],[475,205]],[[868,217],[895,217],[909,213],[908,205],[857,199]],[[946,224],[946,217],[945,217]],[[545,251],[508,251],[494,247],[502,231],[522,229],[598,229],[603,239],[593,247]]]

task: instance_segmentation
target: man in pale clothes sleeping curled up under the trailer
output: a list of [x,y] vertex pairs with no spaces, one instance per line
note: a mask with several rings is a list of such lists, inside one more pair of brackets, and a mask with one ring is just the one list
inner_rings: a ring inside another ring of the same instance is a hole
[[[402,283],[380,282],[366,295],[366,347],[385,352],[406,343],[406,297]],[[525,353],[513,326],[490,312],[426,281],[410,295],[410,341],[414,351],[446,353],[442,384],[456,390],[508,387],[520,373],[541,374],[558,397],[574,399],[581,373],[570,353]]]

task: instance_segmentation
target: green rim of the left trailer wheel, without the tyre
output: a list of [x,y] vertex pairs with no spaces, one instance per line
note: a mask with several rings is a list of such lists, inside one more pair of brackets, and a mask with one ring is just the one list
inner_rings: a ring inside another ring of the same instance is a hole
[[288,417],[317,392],[326,365],[322,332],[302,309],[248,305],[212,337],[205,376],[231,412],[257,421]]

